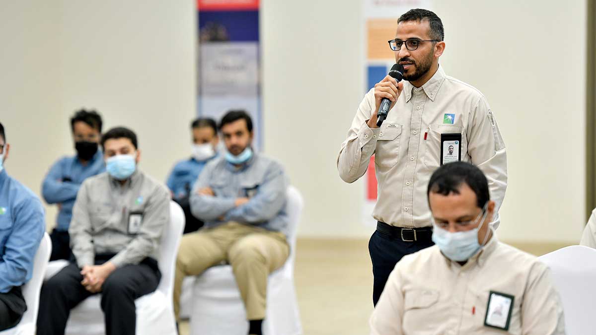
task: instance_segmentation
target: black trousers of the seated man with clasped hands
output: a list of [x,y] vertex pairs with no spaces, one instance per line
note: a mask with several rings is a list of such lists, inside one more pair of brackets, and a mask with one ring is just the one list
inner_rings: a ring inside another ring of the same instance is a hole
[[[100,265],[114,255],[98,255]],[[44,283],[39,300],[38,335],[64,334],[70,310],[94,295],[81,285],[83,276],[76,262]],[[101,287],[101,310],[105,315],[107,335],[135,334],[135,300],[157,289],[162,275],[153,258],[145,258],[138,265],[125,265],[114,270]]]

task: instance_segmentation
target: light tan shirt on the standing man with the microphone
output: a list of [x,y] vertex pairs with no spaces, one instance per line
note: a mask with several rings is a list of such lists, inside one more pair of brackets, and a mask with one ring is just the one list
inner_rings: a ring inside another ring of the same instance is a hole
[[[484,95],[439,67],[420,88],[403,91],[380,128],[367,126],[375,108],[374,88],[364,97],[343,142],[337,168],[354,182],[375,154],[378,201],[373,216],[397,227],[429,227],[427,186],[440,165],[441,134],[461,133],[461,160],[485,173],[498,211],[507,188],[505,143]],[[453,124],[443,123],[455,114]],[[498,227],[498,216],[494,227]]]

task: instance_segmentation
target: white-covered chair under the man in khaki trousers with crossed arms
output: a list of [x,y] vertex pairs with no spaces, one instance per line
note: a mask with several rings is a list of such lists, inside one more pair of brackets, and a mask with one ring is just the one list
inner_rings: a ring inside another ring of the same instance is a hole
[[[294,290],[296,228],[304,206],[300,192],[290,186],[285,210],[290,231],[290,256],[285,264],[269,275],[267,311],[263,322],[265,335],[302,334]],[[248,322],[231,265],[213,266],[195,277],[192,287],[191,335],[246,335]]]

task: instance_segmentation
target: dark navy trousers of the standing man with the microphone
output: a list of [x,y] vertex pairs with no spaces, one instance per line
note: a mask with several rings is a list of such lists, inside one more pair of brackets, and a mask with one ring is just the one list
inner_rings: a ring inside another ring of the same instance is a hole
[[375,306],[383,293],[389,274],[399,260],[405,255],[433,246],[432,235],[431,227],[407,229],[377,222],[377,231],[368,242],[368,251],[373,262]]

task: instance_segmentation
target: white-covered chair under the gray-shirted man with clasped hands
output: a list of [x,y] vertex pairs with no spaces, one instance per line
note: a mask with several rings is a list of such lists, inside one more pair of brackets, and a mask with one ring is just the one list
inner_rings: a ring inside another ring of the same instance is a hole
[[[136,334],[139,335],[170,335],[176,334],[172,294],[176,255],[182,231],[184,230],[184,212],[174,201],[170,201],[170,224],[164,229],[159,259],[159,269],[162,279],[157,289],[135,300],[136,305]],[[52,271],[68,262],[57,260],[50,262]],[[64,267],[63,265],[63,267]],[[58,269],[60,271],[61,268]],[[49,272],[49,271],[48,271]],[[56,271],[57,272],[57,271]],[[54,272],[55,274],[55,272]],[[46,275],[46,277],[51,277]],[[101,311],[101,296],[88,297],[70,311],[66,324],[67,335],[104,335],[105,321]]]

